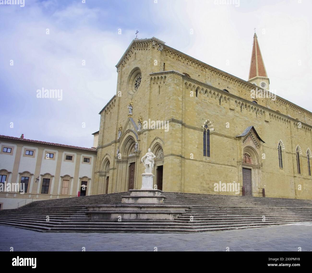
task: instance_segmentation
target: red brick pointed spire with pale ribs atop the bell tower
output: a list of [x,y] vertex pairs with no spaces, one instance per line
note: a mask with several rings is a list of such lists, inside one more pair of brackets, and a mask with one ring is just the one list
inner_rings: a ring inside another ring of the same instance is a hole
[[267,78],[268,76],[266,74],[266,68],[264,67],[257,34],[255,32],[248,81],[257,77]]

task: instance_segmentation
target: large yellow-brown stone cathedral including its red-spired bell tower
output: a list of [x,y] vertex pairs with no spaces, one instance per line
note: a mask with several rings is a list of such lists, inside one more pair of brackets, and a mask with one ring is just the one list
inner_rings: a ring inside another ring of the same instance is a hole
[[253,40],[247,81],[154,37],[133,40],[100,111],[92,193],[140,189],[151,149],[163,191],[310,199],[312,113],[270,92]]

